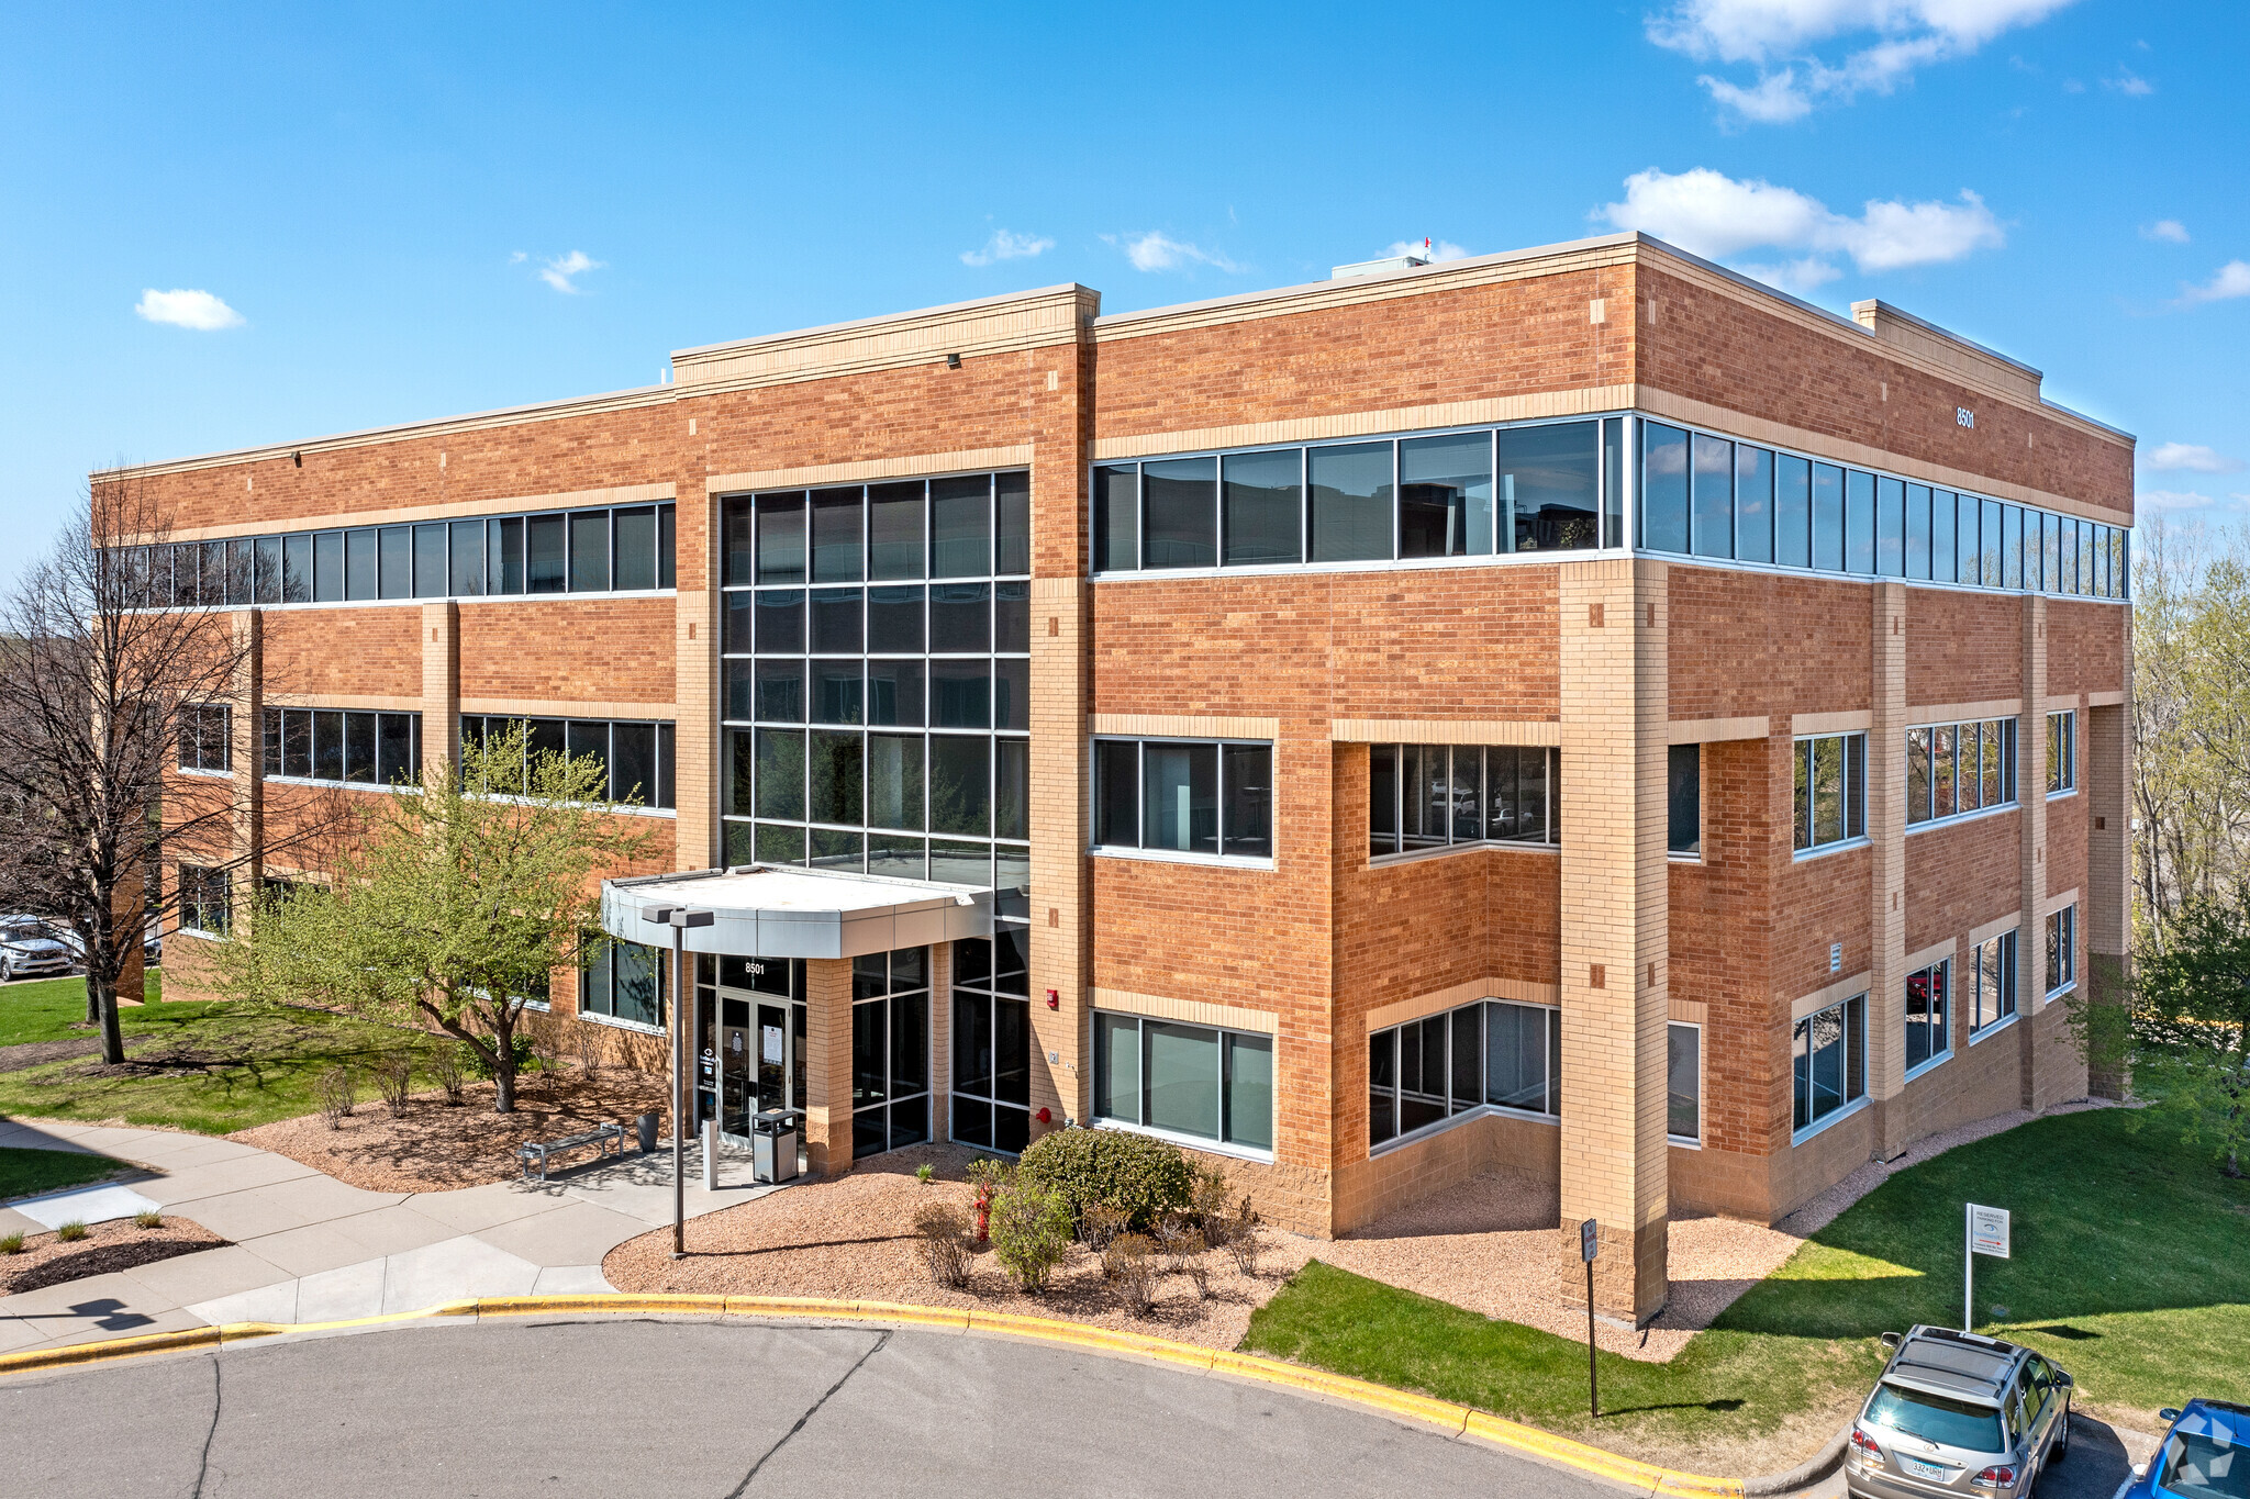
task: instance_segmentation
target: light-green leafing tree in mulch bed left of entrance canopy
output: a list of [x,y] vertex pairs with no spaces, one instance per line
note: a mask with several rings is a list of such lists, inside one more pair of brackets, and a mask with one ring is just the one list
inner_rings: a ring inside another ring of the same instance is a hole
[[612,802],[596,755],[529,751],[515,724],[369,800],[328,883],[268,899],[220,948],[220,991],[434,1025],[484,1061],[493,1108],[511,1112],[524,1007],[605,942],[601,874],[655,843],[616,816],[639,789]]

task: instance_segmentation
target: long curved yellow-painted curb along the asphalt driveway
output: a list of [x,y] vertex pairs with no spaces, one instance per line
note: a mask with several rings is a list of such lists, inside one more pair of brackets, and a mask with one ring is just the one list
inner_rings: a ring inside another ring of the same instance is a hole
[[[0,1375],[29,1373],[40,1369],[74,1369],[112,1360],[140,1357],[146,1353],[171,1353],[178,1348],[214,1348],[259,1337],[286,1333],[340,1333],[398,1326],[407,1321],[430,1321],[436,1317],[549,1317],[549,1315],[686,1315],[686,1317],[758,1317],[767,1321],[871,1321],[884,1326],[943,1328],[954,1333],[983,1333],[999,1337],[1024,1337],[1030,1342],[1064,1348],[1084,1348],[1112,1357],[1145,1357],[1159,1364],[1192,1369],[1197,1373],[1226,1375],[1294,1389],[1305,1396],[1343,1400],[1415,1425],[1436,1427],[1454,1438],[1474,1438],[1494,1447],[1508,1447],[1550,1463],[1577,1468],[1611,1483],[1624,1483],[1647,1495],[1712,1495],[1739,1499],[1746,1492],[1786,1492],[1766,1488],[1768,1479],[1755,1479],[1748,1488],[1742,1479],[1712,1479],[1694,1472],[1674,1472],[1638,1459],[1620,1456],[1588,1443],[1555,1436],[1537,1427],[1526,1427],[1501,1416],[1415,1396],[1352,1375],[1287,1364],[1260,1353],[1235,1353],[1228,1348],[1202,1348],[1168,1337],[1145,1333],[1123,1333],[1096,1328],[1082,1321],[1060,1321],[1053,1317],[1022,1317],[1015,1312],[976,1312],[943,1306],[911,1306],[904,1301],[837,1301],[828,1297],[675,1297],[675,1294],[605,1294],[605,1297],[482,1297],[475,1301],[446,1301],[414,1312],[389,1312],[382,1317],[353,1317],[346,1321],[232,1321],[216,1328],[191,1328],[184,1333],[151,1333],[144,1337],[117,1337],[110,1342],[72,1344],[68,1348],[43,1348],[32,1353],[0,1355]],[[1838,1447],[1840,1450],[1840,1447]],[[1822,1456],[1827,1452],[1822,1450]],[[1814,1459],[1818,1463],[1822,1459]],[[1791,1477],[1791,1474],[1780,1474]]]

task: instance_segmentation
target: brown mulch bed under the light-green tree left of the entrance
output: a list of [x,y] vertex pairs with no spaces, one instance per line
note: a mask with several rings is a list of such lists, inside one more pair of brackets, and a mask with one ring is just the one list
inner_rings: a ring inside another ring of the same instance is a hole
[[[403,1115],[362,1101],[340,1128],[328,1128],[326,1115],[304,1115],[227,1139],[288,1155],[367,1191],[452,1191],[511,1182],[522,1175],[515,1151],[526,1139],[578,1135],[601,1121],[623,1124],[630,1151],[634,1117],[664,1115],[664,1094],[666,1081],[646,1072],[603,1068],[587,1079],[578,1065],[560,1065],[515,1079],[515,1110],[506,1115],[493,1112],[493,1083],[468,1083],[459,1106],[448,1106],[443,1092],[418,1092]],[[590,1160],[590,1153],[569,1160]]]

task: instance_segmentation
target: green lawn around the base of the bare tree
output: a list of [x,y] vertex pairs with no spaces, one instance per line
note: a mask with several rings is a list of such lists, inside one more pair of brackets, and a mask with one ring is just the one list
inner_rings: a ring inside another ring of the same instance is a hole
[[[54,980],[68,987],[79,980]],[[29,993],[36,984],[0,989],[0,1038],[61,1041],[86,1036],[70,1029],[79,1009],[61,1016],[58,996]],[[90,1076],[99,1056],[43,1063],[0,1072],[0,1115],[47,1119],[124,1119],[169,1124],[205,1135],[227,1135],[274,1119],[295,1119],[320,1108],[313,1079],[338,1063],[362,1076],[364,1068],[400,1045],[428,1047],[430,1038],[387,1025],[371,1025],[320,1009],[259,1009],[243,1005],[146,1005],[119,1011],[126,1038],[142,1038],[128,1052],[135,1072]],[[151,1068],[151,1063],[171,1063]]]

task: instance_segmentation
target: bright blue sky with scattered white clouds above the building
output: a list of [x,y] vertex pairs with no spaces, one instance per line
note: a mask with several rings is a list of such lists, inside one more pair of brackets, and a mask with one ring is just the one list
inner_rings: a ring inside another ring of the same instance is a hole
[[101,463],[1616,227],[1987,342],[2144,506],[2250,515],[2241,4],[74,9],[0,18],[0,575]]

